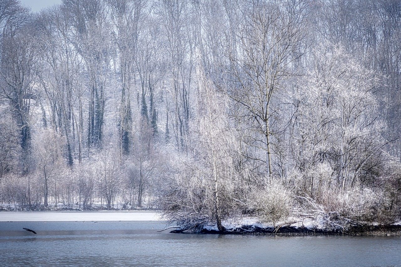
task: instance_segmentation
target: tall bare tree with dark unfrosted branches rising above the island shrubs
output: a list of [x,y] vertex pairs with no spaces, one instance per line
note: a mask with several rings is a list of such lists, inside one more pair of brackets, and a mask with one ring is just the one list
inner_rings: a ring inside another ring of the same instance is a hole
[[284,81],[292,75],[290,67],[298,58],[294,52],[299,49],[303,33],[279,6],[253,2],[245,7],[237,40],[227,40],[229,87],[225,90],[238,103],[235,115],[243,118],[242,127],[252,129],[247,145],[265,151],[264,158],[255,157],[267,164],[271,178],[271,144],[278,134],[272,130],[278,92],[284,90]]

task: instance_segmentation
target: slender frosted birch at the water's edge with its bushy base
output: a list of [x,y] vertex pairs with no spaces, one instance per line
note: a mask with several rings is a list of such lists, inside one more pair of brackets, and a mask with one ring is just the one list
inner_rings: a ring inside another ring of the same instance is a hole
[[190,125],[192,157],[180,162],[161,205],[168,222],[181,231],[201,231],[210,224],[224,231],[222,220],[235,216],[236,194],[242,191],[233,160],[237,140],[229,127],[225,97],[203,70],[197,77],[198,116]]

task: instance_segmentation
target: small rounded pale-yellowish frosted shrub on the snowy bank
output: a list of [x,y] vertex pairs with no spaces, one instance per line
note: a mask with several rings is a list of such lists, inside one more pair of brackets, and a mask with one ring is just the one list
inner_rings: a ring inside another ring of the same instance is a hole
[[290,214],[290,193],[277,182],[271,182],[266,189],[255,190],[251,196],[254,213],[263,223],[273,223],[275,227],[280,220],[285,220]]

